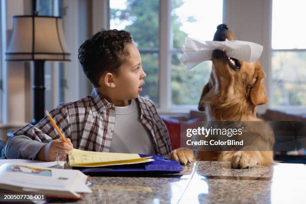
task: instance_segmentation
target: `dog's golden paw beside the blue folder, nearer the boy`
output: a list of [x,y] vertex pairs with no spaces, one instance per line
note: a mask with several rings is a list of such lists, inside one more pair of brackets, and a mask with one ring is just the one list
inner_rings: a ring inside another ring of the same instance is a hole
[[177,148],[171,151],[170,159],[180,162],[182,165],[192,163],[195,159],[194,153],[188,148]]

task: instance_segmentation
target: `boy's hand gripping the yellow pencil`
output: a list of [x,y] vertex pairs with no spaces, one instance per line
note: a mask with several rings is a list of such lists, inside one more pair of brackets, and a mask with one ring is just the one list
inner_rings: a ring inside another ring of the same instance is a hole
[[66,138],[66,140],[68,143],[58,138],[43,145],[37,153],[37,158],[43,161],[55,161],[57,152],[63,150],[62,153],[67,153],[73,149],[70,139]]

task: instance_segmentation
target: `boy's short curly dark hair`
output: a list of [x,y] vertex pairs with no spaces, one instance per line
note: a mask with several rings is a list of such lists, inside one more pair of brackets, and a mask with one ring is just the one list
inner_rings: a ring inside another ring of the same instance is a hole
[[130,33],[124,30],[100,30],[86,39],[78,48],[78,60],[94,87],[105,72],[118,74],[118,68],[129,56],[127,44],[132,43]]

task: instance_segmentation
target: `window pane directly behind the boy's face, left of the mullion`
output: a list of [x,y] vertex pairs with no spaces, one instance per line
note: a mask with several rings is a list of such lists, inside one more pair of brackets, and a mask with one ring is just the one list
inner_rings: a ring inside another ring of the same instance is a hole
[[110,29],[132,34],[147,74],[141,95],[158,106],[159,0],[110,0]]

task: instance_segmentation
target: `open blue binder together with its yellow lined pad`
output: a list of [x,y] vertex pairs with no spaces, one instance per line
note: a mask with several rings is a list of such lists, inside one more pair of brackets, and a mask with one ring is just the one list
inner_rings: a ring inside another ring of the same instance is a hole
[[183,168],[180,163],[161,155],[136,153],[110,153],[73,149],[67,160],[74,169],[88,175],[118,174],[135,175],[139,173],[178,173]]

